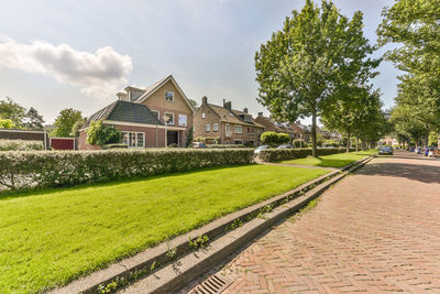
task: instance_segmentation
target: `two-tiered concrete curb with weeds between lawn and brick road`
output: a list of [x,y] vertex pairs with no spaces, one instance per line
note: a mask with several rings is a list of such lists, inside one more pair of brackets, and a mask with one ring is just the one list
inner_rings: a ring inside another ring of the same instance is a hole
[[[64,287],[55,288],[51,293],[98,293],[100,287],[110,283],[114,284],[114,287],[110,287],[111,291],[116,291],[125,285],[128,281],[134,282],[142,277],[143,280],[139,284],[148,281],[148,290],[145,292],[145,288],[143,288],[142,293],[164,293],[183,287],[187,282],[206,272],[211,264],[218,263],[273,224],[297,211],[327,187],[341,179],[346,175],[341,171],[349,170],[350,173],[372,157],[362,159],[341,170],[305,183],[293,190],[216,219],[199,229],[146,249],[107,269],[76,280]],[[273,207],[277,208],[272,210]],[[285,207],[290,208],[284,209]],[[283,211],[278,211],[279,209]],[[255,218],[257,215],[270,210],[272,211],[265,214],[267,219]],[[275,211],[278,213],[275,214]],[[237,220],[240,220],[241,224],[244,222],[244,225],[239,227]],[[213,241],[210,242],[209,248],[194,252],[195,249],[188,240],[195,241],[199,236],[206,236]],[[182,259],[176,262],[179,257]],[[176,266],[176,264],[179,264],[179,266]],[[166,266],[158,269],[162,265]],[[144,277],[147,274],[150,275]]]

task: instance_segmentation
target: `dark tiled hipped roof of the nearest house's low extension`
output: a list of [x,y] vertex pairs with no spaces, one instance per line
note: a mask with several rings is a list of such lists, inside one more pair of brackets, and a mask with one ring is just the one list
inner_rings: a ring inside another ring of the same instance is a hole
[[145,105],[123,100],[114,101],[91,115],[85,127],[97,120],[162,124]]

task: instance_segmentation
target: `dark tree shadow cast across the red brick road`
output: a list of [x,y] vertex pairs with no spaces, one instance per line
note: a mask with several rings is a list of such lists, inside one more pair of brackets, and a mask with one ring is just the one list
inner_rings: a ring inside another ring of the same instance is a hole
[[440,184],[440,164],[435,166],[427,164],[375,161],[359,170],[356,174],[405,177],[426,184]]

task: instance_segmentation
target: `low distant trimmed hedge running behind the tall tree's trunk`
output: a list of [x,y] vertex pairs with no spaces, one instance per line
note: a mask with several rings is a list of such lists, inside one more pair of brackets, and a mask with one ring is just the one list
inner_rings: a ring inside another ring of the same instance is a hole
[[[352,149],[351,151],[355,151],[355,149]],[[345,152],[344,148],[322,148],[318,149],[318,156],[343,152]],[[260,153],[260,159],[264,162],[288,161],[305,159],[307,156],[311,156],[311,149],[266,149]]]

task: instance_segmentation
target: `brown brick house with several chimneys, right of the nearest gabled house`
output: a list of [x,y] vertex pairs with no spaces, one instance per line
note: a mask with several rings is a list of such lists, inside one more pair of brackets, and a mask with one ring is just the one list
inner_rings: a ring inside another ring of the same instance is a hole
[[254,121],[248,108],[232,109],[231,101],[223,106],[208,104],[204,97],[194,115],[194,137],[216,138],[220,144],[260,144],[264,127]]

